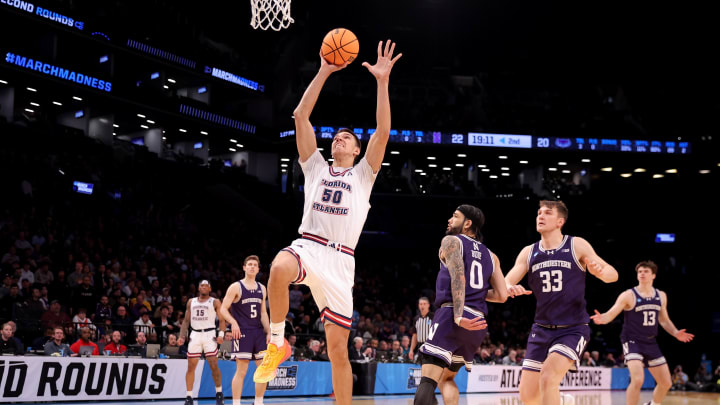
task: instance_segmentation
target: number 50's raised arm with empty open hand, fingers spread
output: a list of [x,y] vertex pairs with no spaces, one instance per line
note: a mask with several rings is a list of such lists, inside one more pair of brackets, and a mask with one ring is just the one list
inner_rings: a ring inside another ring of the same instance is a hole
[[377,173],[378,170],[380,170],[383,158],[385,157],[385,147],[390,138],[390,94],[388,93],[388,85],[392,67],[402,56],[402,53],[400,53],[393,58],[393,52],[395,52],[394,42],[388,39],[385,42],[385,49],[383,49],[383,43],[380,41],[378,43],[377,62],[375,62],[374,65],[363,62],[363,66],[375,76],[378,85],[377,111],[375,113],[377,128],[375,129],[375,133],[370,137],[370,142],[365,152],[365,159],[367,159],[370,167],[372,167],[373,173]]

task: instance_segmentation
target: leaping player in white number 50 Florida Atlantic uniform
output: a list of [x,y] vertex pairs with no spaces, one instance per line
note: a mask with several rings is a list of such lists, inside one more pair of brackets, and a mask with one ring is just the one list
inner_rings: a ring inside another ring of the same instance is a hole
[[308,285],[325,322],[328,355],[335,398],[341,405],[352,401],[352,372],[348,361],[348,336],[352,316],[352,286],[355,278],[354,248],[370,209],[375,177],[390,137],[388,83],[394,63],[395,44],[378,44],[375,65],[363,63],[377,80],[377,129],[368,142],[365,157],[357,165],[360,142],[350,130],[340,130],[332,143],[333,164],[317,149],[310,113],[325,80],[346,65],[330,65],[321,57],[320,71],[305,90],[295,109],[295,133],[299,161],[305,175],[305,207],[300,239],[280,251],[270,268],[270,344],[255,372],[255,382],[270,381],[277,367],[290,356],[284,340],[285,315],[289,309],[288,286]]

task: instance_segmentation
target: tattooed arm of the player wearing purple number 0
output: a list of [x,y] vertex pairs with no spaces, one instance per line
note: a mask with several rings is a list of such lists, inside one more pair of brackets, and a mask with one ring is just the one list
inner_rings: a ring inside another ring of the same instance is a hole
[[[465,307],[465,264],[462,257],[462,243],[456,236],[445,236],[440,245],[440,259],[450,272],[450,290],[453,297],[453,319],[458,326],[475,330],[487,327],[481,317],[467,319],[463,317]],[[482,326],[482,327],[480,327]]]

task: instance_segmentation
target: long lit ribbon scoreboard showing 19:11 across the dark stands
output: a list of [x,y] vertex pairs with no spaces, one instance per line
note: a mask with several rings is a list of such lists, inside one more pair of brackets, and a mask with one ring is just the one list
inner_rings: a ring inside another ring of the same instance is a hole
[[[318,139],[332,139],[341,127],[313,127]],[[350,128],[361,141],[367,141],[374,128]],[[280,137],[294,136],[295,131],[284,131]],[[612,138],[553,137],[486,132],[441,132],[391,129],[391,143],[463,145],[468,147],[492,147],[515,149],[553,149],[573,151],[637,152],[687,155],[690,142],[648,141]]]

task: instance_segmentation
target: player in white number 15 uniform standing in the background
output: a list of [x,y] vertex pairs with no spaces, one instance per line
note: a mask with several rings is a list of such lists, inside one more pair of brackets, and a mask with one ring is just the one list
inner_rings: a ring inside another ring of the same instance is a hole
[[[207,280],[201,281],[198,286],[198,296],[188,301],[185,309],[185,319],[180,327],[178,346],[185,343],[188,326],[192,329],[190,343],[188,344],[188,369],[185,373],[185,385],[187,387],[185,405],[192,405],[193,403],[192,389],[193,384],[195,384],[195,368],[202,353],[205,353],[205,360],[212,370],[217,405],[222,405],[225,400],[222,393],[220,369],[217,366],[217,348],[218,345],[222,344],[225,336],[225,319],[220,315],[220,301],[211,297],[210,291],[210,282]],[[220,332],[217,334],[215,317],[220,320]]]

